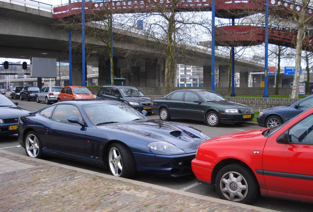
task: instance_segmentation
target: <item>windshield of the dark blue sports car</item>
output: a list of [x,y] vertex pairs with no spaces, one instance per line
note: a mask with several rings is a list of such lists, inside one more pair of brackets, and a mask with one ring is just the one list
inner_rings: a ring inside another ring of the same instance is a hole
[[94,125],[147,119],[131,106],[122,103],[99,103],[86,105],[83,108]]

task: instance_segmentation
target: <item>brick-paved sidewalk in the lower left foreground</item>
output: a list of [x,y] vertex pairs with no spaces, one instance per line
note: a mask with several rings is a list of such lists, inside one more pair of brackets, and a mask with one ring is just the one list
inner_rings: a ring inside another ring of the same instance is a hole
[[0,212],[273,212],[0,150]]

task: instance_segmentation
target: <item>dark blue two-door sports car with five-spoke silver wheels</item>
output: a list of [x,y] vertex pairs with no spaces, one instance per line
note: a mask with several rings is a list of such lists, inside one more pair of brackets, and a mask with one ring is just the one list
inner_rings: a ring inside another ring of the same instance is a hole
[[111,100],[65,101],[22,116],[18,139],[28,156],[79,160],[112,175],[191,174],[191,160],[210,137],[192,127],[152,120]]

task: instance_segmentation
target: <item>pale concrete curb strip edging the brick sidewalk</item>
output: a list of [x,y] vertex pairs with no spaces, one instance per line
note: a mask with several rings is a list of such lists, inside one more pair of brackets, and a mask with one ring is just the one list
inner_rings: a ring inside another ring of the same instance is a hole
[[10,155],[10,156],[14,156],[14,157],[19,157],[19,158],[26,159],[26,160],[42,162],[42,163],[45,163],[45,164],[58,166],[58,167],[62,167],[62,168],[65,168],[65,169],[74,170],[74,171],[77,171],[77,172],[82,172],[82,173],[85,173],[85,174],[91,174],[91,175],[94,175],[94,176],[107,178],[107,179],[110,179],[110,180],[116,180],[116,181],[131,183],[131,184],[134,184],[134,185],[155,188],[155,189],[163,190],[163,191],[166,191],[166,192],[176,193],[176,194],[179,194],[179,195],[184,195],[184,196],[188,196],[188,197],[192,197],[192,198],[196,198],[196,199],[216,202],[216,203],[223,204],[223,205],[232,205],[232,206],[235,206],[235,207],[240,207],[240,208],[248,209],[248,210],[255,210],[255,211],[259,211],[259,212],[278,212],[278,211],[273,211],[273,210],[270,210],[270,209],[264,209],[264,208],[260,208],[260,207],[256,207],[256,206],[250,206],[250,205],[245,205],[245,204],[241,204],[241,203],[235,203],[235,202],[221,200],[221,199],[217,199],[217,198],[213,198],[213,197],[208,197],[208,196],[203,196],[203,195],[199,195],[199,194],[194,194],[194,193],[190,193],[190,192],[187,192],[187,191],[176,190],[176,189],[172,189],[172,188],[168,188],[168,187],[164,187],[164,186],[160,186],[160,185],[153,185],[153,184],[143,183],[143,182],[130,180],[130,179],[126,179],[126,178],[115,177],[115,176],[112,176],[112,175],[107,175],[107,174],[103,174],[103,173],[99,173],[99,172],[95,172],[95,171],[90,171],[90,170],[86,170],[86,169],[82,169],[82,168],[77,168],[77,167],[73,167],[73,166],[69,166],[69,165],[64,165],[64,164],[60,164],[60,163],[56,163],[56,162],[47,161],[47,160],[44,160],[44,159],[33,159],[33,158],[28,157],[28,156],[19,155],[19,154],[16,154],[16,153],[11,153],[11,152],[8,152],[8,151],[5,151],[5,150],[0,150],[0,153],[7,154],[7,155]]

